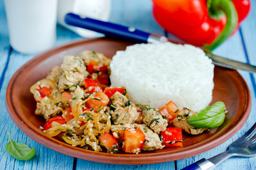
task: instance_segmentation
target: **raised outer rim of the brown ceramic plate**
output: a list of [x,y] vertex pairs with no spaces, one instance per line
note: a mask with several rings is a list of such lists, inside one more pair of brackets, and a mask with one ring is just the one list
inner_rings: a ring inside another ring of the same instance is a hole
[[[36,62],[37,60],[40,60],[42,58],[42,60],[45,60],[47,57],[43,57],[45,55],[49,55],[48,57],[50,57],[50,53],[56,53],[56,50],[61,51],[61,49],[63,47],[72,47],[75,46],[77,44],[83,43],[83,42],[90,42],[92,40],[115,40],[115,39],[110,39],[110,38],[84,38],[84,39],[80,39],[80,40],[74,40],[71,42],[67,42],[63,45],[58,45],[56,47],[53,47],[49,50],[46,50],[45,52],[41,52],[40,54],[36,55],[35,57],[33,57],[31,60],[28,60],[28,62],[26,62],[25,64],[23,64],[23,66],[21,66],[16,72],[15,74],[11,77],[11,80],[9,81],[8,87],[6,89],[6,109],[9,113],[9,116],[11,117],[11,120],[13,120],[13,122],[17,125],[17,127],[23,131],[26,135],[28,135],[28,137],[31,137],[33,140],[35,140],[36,142],[40,143],[41,145],[44,145],[50,149],[53,149],[57,152],[63,153],[62,150],[60,150],[61,147],[65,147],[66,149],[75,149],[76,152],[82,152],[82,150],[85,149],[80,149],[78,147],[72,147],[71,145],[65,144],[64,142],[61,142],[59,140],[55,140],[53,137],[48,137],[46,134],[40,134],[37,131],[39,130],[33,130],[33,128],[31,128],[28,124],[24,123],[23,120],[16,114],[16,111],[14,109],[13,103],[11,102],[11,89],[14,86],[14,82],[16,80],[16,77],[18,77],[18,74],[20,74],[20,72],[22,72],[22,70],[26,67],[28,67],[29,64],[31,64],[32,62]],[[117,40],[115,40],[117,41]],[[120,41],[120,40],[118,40]],[[127,42],[127,41],[124,41]],[[178,152],[178,149],[176,150],[176,152],[171,151],[171,154],[176,154],[176,157],[179,156],[179,159],[185,159],[187,157],[183,157],[183,152],[186,152],[187,154],[190,154],[190,157],[193,157],[197,154],[201,154],[203,152],[206,152],[210,149],[213,149],[214,147],[217,147],[218,145],[222,144],[223,142],[227,141],[230,139],[230,137],[233,137],[233,135],[235,135],[235,133],[237,133],[243,125],[245,125],[245,122],[247,121],[247,118],[250,115],[250,110],[252,107],[252,99],[250,96],[250,89],[247,86],[247,83],[245,81],[245,79],[243,79],[243,77],[241,76],[241,74],[236,71],[236,70],[231,70],[229,69],[230,72],[232,72],[233,74],[235,74],[236,77],[238,77],[238,79],[240,80],[240,82],[242,83],[242,85],[245,87],[244,88],[244,94],[247,98],[247,101],[245,101],[245,108],[243,109],[243,114],[241,119],[238,120],[238,123],[236,123],[232,128],[230,128],[230,130],[228,130],[227,132],[225,132],[224,135],[214,138],[212,141],[213,142],[208,142],[208,143],[204,143],[203,146],[199,147],[200,149],[198,149],[197,145],[202,145],[201,143],[196,144],[196,145],[192,145],[190,147],[186,147],[185,150],[183,150],[182,152]],[[41,132],[43,133],[43,132]],[[40,139],[38,140],[38,136],[40,135]],[[58,145],[58,147],[56,147],[56,145]],[[196,146],[196,147],[195,147]],[[195,148],[193,148],[195,147]],[[205,149],[207,148],[207,149]],[[201,150],[204,150],[203,152]],[[170,151],[169,151],[170,152]],[[84,154],[87,155],[87,157],[78,157],[77,154],[75,154],[75,152],[64,152],[63,154],[67,154],[71,157],[77,157],[80,159],[86,159],[89,161],[93,161],[93,162],[102,162],[102,163],[108,163],[110,164],[110,159],[111,159],[111,164],[156,164],[156,163],[161,163],[161,162],[170,162],[170,161],[174,161],[174,160],[178,160],[178,159],[171,159],[169,157],[169,152],[161,152],[161,153],[146,153],[145,154],[109,154],[109,153],[105,153],[105,152],[93,152],[93,151],[88,151],[86,150],[86,152],[83,152]],[[102,159],[95,159],[98,158],[99,156],[101,156]],[[154,157],[158,157],[161,159],[161,161],[154,160]],[[151,157],[151,159],[150,159]],[[153,158],[152,158],[153,157]],[[127,159],[129,158],[129,159]],[[120,162],[117,162],[117,159]],[[139,159],[139,162],[138,162]],[[150,159],[150,162],[149,162]]]

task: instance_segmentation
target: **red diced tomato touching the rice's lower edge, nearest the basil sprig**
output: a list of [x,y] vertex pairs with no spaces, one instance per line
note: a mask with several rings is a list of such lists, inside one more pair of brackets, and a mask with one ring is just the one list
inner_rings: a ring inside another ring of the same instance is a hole
[[159,113],[161,115],[165,115],[168,120],[168,123],[171,123],[171,121],[174,120],[179,113],[178,106],[176,106],[174,102],[170,101],[159,110]]

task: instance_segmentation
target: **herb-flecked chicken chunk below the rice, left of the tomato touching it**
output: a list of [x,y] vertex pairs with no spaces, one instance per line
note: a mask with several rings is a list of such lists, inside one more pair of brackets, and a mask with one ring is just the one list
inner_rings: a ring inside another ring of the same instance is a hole
[[146,111],[144,111],[143,122],[157,134],[166,130],[168,125],[167,120],[154,108],[146,108]]

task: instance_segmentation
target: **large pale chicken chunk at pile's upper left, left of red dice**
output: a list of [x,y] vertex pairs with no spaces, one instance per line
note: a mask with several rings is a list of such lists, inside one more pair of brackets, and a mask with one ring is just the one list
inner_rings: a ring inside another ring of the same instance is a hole
[[87,77],[88,72],[80,57],[65,56],[61,69],[64,72],[58,77],[60,92],[66,89],[75,91],[76,86],[84,84],[84,79]]

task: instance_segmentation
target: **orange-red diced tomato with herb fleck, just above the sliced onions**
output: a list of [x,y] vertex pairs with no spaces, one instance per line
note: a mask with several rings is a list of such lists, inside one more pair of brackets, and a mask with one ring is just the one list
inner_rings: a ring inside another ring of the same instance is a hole
[[94,111],[97,111],[97,108],[104,108],[110,102],[110,99],[102,91],[97,91],[92,98],[85,102],[87,108],[94,108]]

